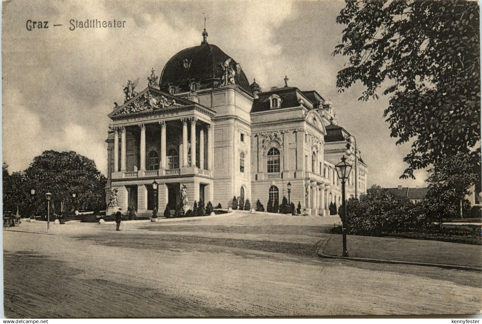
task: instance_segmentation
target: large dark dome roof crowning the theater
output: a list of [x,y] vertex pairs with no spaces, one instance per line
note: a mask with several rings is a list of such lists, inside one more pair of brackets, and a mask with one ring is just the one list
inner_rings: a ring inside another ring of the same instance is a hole
[[[161,90],[168,91],[169,86],[174,85],[179,87],[179,92],[185,92],[189,91],[190,82],[195,81],[200,82],[201,89],[212,88],[214,81],[221,79],[223,65],[228,58],[230,57],[219,47],[208,43],[184,49],[167,61],[159,86]],[[236,64],[236,61],[231,59],[231,64]],[[234,81],[242,89],[252,93],[242,69],[241,74],[234,77]]]

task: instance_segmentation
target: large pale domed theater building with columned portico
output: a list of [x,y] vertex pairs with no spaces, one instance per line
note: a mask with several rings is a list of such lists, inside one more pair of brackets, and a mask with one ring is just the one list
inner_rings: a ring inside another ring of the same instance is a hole
[[[174,210],[186,186],[191,208],[199,200],[227,208],[233,196],[266,208],[269,198],[288,198],[290,182],[290,200],[304,213],[328,215],[329,203],[341,202],[334,166],[350,137],[331,103],[288,86],[288,78],[263,92],[207,42],[206,31],[202,36],[201,45],[166,63],[159,81],[152,70],[139,93],[138,82],[128,81],[125,102],[108,115],[107,204],[115,194],[123,211],[151,214],[155,199],[159,210]],[[347,190],[355,194],[357,183],[360,196],[368,171],[358,148],[356,154],[358,176],[353,172]]]

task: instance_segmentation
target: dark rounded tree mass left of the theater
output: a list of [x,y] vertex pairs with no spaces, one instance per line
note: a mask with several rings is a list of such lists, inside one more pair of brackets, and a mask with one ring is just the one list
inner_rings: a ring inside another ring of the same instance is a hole
[[[8,174],[2,165],[3,208],[19,210],[22,215],[45,214],[45,193],[52,193],[51,208],[55,214],[79,207],[81,210],[105,210],[106,177],[95,167],[94,161],[74,151],[43,151],[23,172]],[[30,197],[30,189],[36,195]],[[77,192],[74,205],[72,192]]]

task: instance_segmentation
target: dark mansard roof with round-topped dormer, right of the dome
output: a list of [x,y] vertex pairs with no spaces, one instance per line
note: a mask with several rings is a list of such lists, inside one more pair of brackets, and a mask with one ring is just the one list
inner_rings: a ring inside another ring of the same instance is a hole
[[309,98],[301,92],[296,87],[283,87],[283,88],[275,88],[271,89],[267,92],[261,92],[258,94],[258,98],[254,99],[253,107],[251,108],[251,112],[258,112],[258,111],[266,111],[270,110],[269,104],[269,97],[272,94],[277,94],[281,97],[281,109],[282,108],[291,108],[291,107],[299,107],[300,103],[298,99],[303,97],[304,100],[307,100],[309,104],[304,104],[307,109],[312,109],[314,106],[313,102],[309,100]]

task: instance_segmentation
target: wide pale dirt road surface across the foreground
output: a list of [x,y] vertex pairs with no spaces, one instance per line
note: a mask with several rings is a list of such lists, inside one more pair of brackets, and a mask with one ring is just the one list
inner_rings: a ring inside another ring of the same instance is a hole
[[465,314],[478,272],[321,259],[331,219],[22,223],[3,231],[8,318]]

